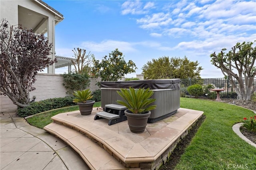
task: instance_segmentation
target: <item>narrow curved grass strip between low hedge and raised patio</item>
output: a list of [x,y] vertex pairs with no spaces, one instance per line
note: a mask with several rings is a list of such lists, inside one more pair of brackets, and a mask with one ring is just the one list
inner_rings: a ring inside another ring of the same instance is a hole
[[[95,102],[93,107],[100,107],[101,102]],[[78,106],[72,106],[72,107],[64,107],[60,109],[54,109],[53,111],[41,113],[38,115],[34,115],[33,117],[27,118],[26,120],[28,123],[34,127],[43,128],[46,125],[52,123],[51,117],[54,115],[57,115],[59,113],[65,113],[65,112],[71,112],[71,111],[78,111]]]

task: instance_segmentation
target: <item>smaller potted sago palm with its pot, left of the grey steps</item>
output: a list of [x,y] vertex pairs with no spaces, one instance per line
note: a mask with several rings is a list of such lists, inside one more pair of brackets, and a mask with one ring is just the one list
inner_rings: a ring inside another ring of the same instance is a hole
[[89,100],[93,97],[90,89],[74,91],[73,95],[76,97],[73,102],[79,106],[81,115],[90,115],[95,103],[95,101]]

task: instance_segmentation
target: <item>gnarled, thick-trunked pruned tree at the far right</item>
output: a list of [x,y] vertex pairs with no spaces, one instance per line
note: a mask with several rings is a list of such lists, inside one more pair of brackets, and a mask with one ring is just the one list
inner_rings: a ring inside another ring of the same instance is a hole
[[[215,52],[210,55],[212,64],[228,77],[239,99],[242,100],[250,100],[256,91],[256,86],[253,87],[256,76],[256,47],[252,45],[253,42],[238,42],[228,53],[224,52],[226,48],[223,48],[217,55]],[[233,77],[237,80],[239,88]]]

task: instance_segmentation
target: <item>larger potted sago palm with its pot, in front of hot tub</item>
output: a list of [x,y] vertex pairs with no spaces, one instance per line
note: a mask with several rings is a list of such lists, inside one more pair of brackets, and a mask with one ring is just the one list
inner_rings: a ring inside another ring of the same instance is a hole
[[150,99],[154,92],[150,91],[149,88],[134,89],[129,87],[129,89],[120,89],[117,93],[124,99],[124,101],[117,100],[117,103],[127,107],[124,113],[130,131],[134,133],[144,132],[148,117],[151,114],[150,110],[156,108],[156,105],[149,105],[156,101],[156,99]]

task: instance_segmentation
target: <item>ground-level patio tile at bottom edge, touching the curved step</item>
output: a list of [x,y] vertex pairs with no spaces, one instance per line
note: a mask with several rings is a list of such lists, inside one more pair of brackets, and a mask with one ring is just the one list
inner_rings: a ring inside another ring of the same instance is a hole
[[60,155],[60,158],[65,162],[69,170],[90,170],[80,155],[70,146],[57,150],[56,152]]

